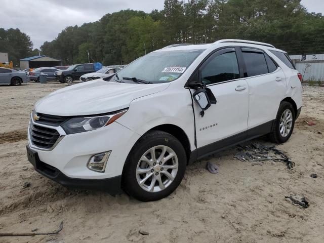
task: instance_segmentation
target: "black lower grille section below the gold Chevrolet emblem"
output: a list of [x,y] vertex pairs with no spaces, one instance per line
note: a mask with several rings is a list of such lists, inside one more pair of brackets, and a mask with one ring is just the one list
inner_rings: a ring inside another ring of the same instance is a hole
[[29,125],[29,134],[32,144],[39,148],[47,149],[52,148],[60,137],[60,134],[55,129],[45,128],[32,123]]

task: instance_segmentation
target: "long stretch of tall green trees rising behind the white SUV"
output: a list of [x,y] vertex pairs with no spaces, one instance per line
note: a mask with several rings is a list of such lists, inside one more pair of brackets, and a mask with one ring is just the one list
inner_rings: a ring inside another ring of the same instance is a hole
[[[289,54],[324,52],[324,19],[300,0],[165,0],[151,13],[121,10],[93,23],[68,26],[41,54],[63,64],[127,64],[177,43],[213,43],[223,38],[271,43]],[[0,37],[1,38],[1,37]],[[0,49],[1,50],[1,49]]]

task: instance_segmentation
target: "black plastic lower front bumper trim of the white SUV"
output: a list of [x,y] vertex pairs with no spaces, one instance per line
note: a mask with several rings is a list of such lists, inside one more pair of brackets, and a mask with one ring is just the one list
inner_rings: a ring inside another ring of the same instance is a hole
[[[27,145],[27,151],[29,146]],[[83,189],[83,190],[96,190],[108,192],[111,195],[119,194],[121,192],[121,176],[115,176],[106,179],[78,179],[70,178],[64,175],[57,168],[50,166],[38,157],[38,153],[34,152],[35,165],[34,169],[39,174],[71,189]]]

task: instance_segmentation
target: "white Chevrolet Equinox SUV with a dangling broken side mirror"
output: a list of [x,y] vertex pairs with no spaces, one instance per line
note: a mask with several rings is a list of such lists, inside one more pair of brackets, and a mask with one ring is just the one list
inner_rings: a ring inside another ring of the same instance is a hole
[[151,52],[110,80],[77,84],[35,104],[28,159],[72,188],[157,200],[190,161],[269,134],[284,143],[301,106],[286,52],[225,39]]

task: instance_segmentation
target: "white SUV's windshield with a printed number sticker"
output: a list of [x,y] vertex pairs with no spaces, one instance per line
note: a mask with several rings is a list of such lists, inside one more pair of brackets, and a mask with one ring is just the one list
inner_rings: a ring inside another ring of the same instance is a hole
[[151,52],[118,71],[114,80],[120,82],[123,77],[136,77],[153,84],[171,82],[179,78],[204,50]]

